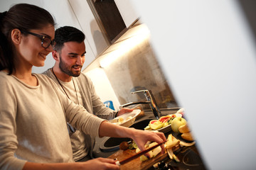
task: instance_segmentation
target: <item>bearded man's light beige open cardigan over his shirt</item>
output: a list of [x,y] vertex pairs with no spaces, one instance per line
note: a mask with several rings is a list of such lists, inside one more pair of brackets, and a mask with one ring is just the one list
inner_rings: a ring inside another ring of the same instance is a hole
[[[53,79],[59,87],[60,91],[65,94],[50,69],[48,69],[46,72],[43,72],[43,74],[46,74],[48,77]],[[116,112],[110,108],[107,108],[105,104],[102,103],[100,97],[97,96],[95,86],[92,84],[90,78],[88,78],[84,73],[81,73],[79,77],[73,77],[73,79],[75,79],[75,82],[78,84],[78,88],[82,96],[82,106],[84,106],[89,113],[97,115],[98,117],[106,120],[114,118]],[[75,133],[70,135],[73,148],[73,159],[75,159],[75,161],[85,157],[88,152],[90,157],[92,157],[92,149],[95,145],[94,138],[95,137],[90,137],[90,135],[85,135],[79,130],[76,130]]]

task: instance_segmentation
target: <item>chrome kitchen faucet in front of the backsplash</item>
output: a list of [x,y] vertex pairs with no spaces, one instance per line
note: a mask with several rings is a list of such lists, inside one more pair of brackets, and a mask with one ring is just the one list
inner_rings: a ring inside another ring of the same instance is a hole
[[146,97],[147,101],[135,101],[135,102],[126,103],[122,106],[119,106],[119,108],[124,108],[125,106],[130,106],[134,104],[149,104],[149,106],[151,107],[151,111],[154,113],[154,116],[159,119],[161,117],[161,111],[157,106],[156,100],[150,90],[134,91],[131,94],[137,94],[141,92],[144,93],[144,96]]

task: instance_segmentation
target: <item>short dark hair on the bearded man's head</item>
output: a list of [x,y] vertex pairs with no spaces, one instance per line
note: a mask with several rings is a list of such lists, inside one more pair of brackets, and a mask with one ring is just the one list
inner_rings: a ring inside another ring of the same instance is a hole
[[63,48],[65,42],[83,42],[85,40],[85,34],[81,30],[71,26],[63,26],[55,30],[55,45],[54,50],[60,51]]

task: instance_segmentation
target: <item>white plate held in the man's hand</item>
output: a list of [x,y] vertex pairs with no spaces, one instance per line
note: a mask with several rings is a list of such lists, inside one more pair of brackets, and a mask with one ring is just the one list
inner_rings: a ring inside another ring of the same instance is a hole
[[[109,120],[109,122],[110,122],[110,123],[113,123],[113,124],[117,124],[117,125],[122,125],[122,126],[125,126],[125,127],[129,127],[129,126],[131,126],[131,125],[134,123],[134,121],[135,121],[137,115],[139,115],[139,113],[141,113],[141,110],[139,110],[139,109],[134,109],[134,111],[132,111],[132,112],[130,112],[130,113],[125,113],[124,115],[119,115],[119,116],[117,116],[117,118],[114,118],[114,119],[112,119],[112,120]],[[129,116],[132,116],[132,118],[129,119],[129,120],[127,120],[127,118],[128,118]],[[120,124],[118,123],[119,118],[123,118],[123,119],[124,119],[124,121],[122,121],[122,123],[120,123]]]

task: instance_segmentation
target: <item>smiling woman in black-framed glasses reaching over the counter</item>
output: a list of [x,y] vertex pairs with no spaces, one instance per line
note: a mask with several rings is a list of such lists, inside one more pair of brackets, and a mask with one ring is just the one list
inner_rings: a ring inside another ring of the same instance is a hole
[[97,118],[46,75],[32,74],[53,50],[54,25],[48,11],[29,4],[0,13],[0,169],[119,169],[112,159],[75,163],[66,122],[92,137],[130,137],[142,150],[166,140]]

